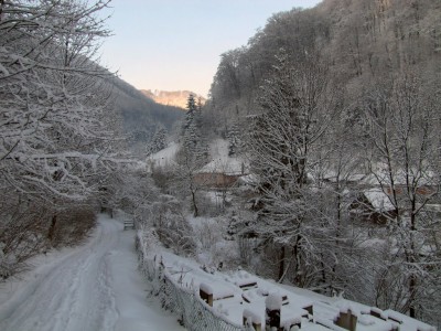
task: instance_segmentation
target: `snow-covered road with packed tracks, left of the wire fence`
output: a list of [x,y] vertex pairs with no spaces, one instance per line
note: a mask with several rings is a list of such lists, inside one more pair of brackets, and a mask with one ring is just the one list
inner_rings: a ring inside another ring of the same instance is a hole
[[0,330],[184,330],[147,298],[135,232],[104,215],[98,224],[85,245],[39,257],[23,279],[0,285]]

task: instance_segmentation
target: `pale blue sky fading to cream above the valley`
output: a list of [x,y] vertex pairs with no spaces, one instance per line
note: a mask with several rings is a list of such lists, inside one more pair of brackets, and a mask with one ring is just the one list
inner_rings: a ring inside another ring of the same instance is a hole
[[112,0],[101,64],[139,89],[206,96],[219,55],[246,45],[272,13],[321,0]]

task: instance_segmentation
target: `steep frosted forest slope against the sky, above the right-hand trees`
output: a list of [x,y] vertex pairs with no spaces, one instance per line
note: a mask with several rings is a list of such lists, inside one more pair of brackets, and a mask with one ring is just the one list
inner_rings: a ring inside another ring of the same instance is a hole
[[344,105],[399,73],[439,79],[440,7],[431,0],[325,0],[277,13],[247,45],[222,54],[212,109],[225,120],[255,114],[259,87],[281,50],[298,67],[322,63],[332,85],[344,90]]

